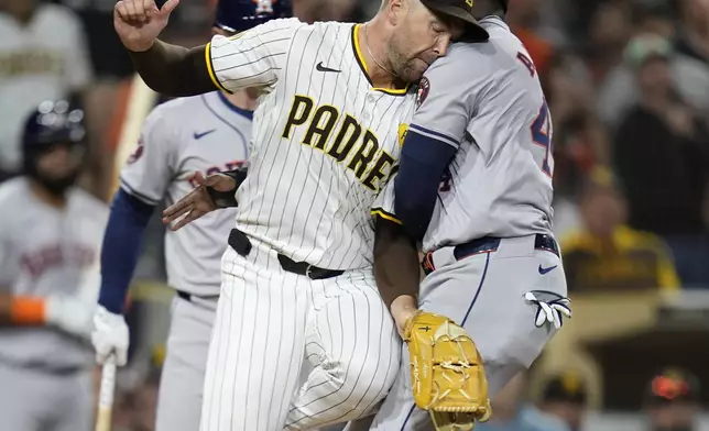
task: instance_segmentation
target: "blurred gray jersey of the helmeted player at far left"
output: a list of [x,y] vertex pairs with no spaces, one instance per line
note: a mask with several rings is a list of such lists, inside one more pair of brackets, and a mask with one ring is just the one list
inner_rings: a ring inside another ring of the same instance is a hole
[[[74,188],[59,210],[36,199],[29,180],[19,177],[0,185],[0,207],[7,209],[0,220],[0,290],[73,297],[95,307],[106,203]],[[0,362],[56,371],[89,367],[94,349],[52,327],[1,328]]]

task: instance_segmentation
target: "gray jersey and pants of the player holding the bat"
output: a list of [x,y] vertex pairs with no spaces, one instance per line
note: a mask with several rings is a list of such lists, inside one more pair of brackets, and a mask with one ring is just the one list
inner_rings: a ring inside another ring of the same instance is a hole
[[[194,173],[212,175],[247,164],[251,111],[221,91],[157,106],[121,172],[121,187],[150,205],[167,205],[195,187]],[[165,265],[175,297],[157,398],[156,431],[197,430],[209,339],[221,284],[221,255],[236,209],[214,211],[189,228],[165,233]]]

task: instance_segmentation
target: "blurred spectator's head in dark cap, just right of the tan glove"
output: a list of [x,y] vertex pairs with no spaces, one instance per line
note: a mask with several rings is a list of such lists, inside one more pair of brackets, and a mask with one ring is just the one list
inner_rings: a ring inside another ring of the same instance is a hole
[[570,431],[580,431],[588,409],[587,401],[583,380],[575,373],[565,373],[547,382],[537,407],[561,419]]

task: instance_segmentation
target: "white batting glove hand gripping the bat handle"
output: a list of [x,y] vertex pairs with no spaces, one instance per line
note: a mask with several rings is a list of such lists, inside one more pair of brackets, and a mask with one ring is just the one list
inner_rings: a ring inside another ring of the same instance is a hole
[[94,332],[91,342],[96,350],[96,362],[103,365],[106,360],[116,354],[116,365],[123,366],[128,362],[128,324],[122,314],[114,314],[98,306],[94,313]]

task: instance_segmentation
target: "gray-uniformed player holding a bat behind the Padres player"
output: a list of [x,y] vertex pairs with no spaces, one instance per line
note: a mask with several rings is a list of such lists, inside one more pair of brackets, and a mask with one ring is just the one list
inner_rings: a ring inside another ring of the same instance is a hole
[[[292,15],[286,0],[270,11],[257,12],[257,8],[251,0],[221,0],[212,33],[231,36]],[[113,352],[118,365],[126,363],[129,338],[123,305],[154,208],[189,192],[201,173],[246,172],[257,97],[244,89],[233,95],[214,91],[174,99],[157,106],[145,120],[138,147],[121,172],[103,241],[102,285],[92,336],[99,362]],[[195,173],[199,173],[197,177]],[[219,268],[234,216],[234,209],[216,212],[192,229],[165,235],[167,283],[177,295],[160,383],[156,431],[199,429],[207,352],[221,283]],[[114,324],[106,324],[106,320]]]

